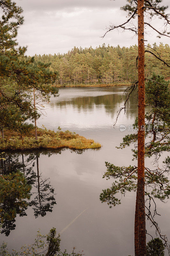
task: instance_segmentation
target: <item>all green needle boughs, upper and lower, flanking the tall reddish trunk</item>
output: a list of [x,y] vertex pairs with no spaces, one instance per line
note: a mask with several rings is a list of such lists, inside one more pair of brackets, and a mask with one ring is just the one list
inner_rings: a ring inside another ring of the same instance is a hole
[[[164,80],[161,75],[153,74],[146,83],[146,103],[148,105],[145,114],[145,156],[154,157],[153,160],[157,164],[155,170],[145,168],[145,192],[149,202],[153,198],[159,198],[164,201],[170,196],[170,183],[168,175],[170,172],[170,157],[167,156],[162,163],[162,168],[159,167],[159,156],[163,152],[168,152],[170,149],[170,92],[168,90],[169,82]],[[158,83],[157,83],[158,82]],[[137,119],[134,126],[137,126]],[[157,127],[158,129],[154,129]],[[125,148],[133,145],[134,157],[137,158],[137,132],[126,135],[119,148]],[[119,167],[108,162],[105,163],[107,171],[103,178],[113,178],[114,182],[111,188],[104,189],[100,194],[101,202],[107,202],[112,207],[120,204],[120,199],[115,197],[115,194],[120,192],[122,195],[126,191],[136,191],[137,189],[137,167]]]

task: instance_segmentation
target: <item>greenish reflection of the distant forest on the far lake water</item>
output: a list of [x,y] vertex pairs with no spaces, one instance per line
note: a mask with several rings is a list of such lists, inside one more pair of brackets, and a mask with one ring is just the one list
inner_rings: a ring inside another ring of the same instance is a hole
[[[124,94],[124,90],[126,87],[98,87],[97,89],[98,90],[96,91],[96,88],[72,88],[72,91],[69,89],[66,92],[63,88],[63,90],[60,90],[61,94],[56,100],[51,98],[50,107],[57,107],[60,109],[71,107],[73,110],[76,109],[76,111],[83,111],[84,113],[93,112],[95,108],[100,109],[104,107],[106,114],[114,117],[125,100],[126,96]],[[73,94],[74,90],[75,93]],[[70,91],[70,96],[68,91]],[[133,92],[131,96],[132,97],[129,98],[128,102],[130,112],[125,114],[128,116],[133,116],[137,105],[137,101],[135,99],[136,92]]]

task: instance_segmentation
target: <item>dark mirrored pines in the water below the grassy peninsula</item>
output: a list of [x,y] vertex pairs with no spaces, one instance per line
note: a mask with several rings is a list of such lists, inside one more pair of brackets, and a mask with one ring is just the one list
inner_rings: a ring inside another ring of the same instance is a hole
[[[47,212],[52,212],[53,206],[56,204],[54,188],[50,184],[50,179],[43,179],[39,170],[41,153],[38,151],[14,154],[9,152],[3,154],[5,160],[0,160],[2,175],[0,184],[1,233],[6,236],[9,236],[11,230],[15,229],[17,215],[27,216],[28,207],[32,207],[34,216],[37,218],[38,216],[44,217]],[[56,153],[61,154],[61,150]],[[50,152],[44,152],[44,154],[51,155]]]

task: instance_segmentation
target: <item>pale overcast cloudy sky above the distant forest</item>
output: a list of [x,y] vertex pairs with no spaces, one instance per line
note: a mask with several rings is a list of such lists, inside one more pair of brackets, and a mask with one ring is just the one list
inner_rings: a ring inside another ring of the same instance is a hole
[[[168,2],[163,0],[164,5]],[[122,30],[109,32],[101,38],[109,24],[118,25],[126,20],[126,12],[120,10],[125,0],[17,0],[16,3],[22,6],[25,17],[18,32],[18,42],[28,46],[28,55],[64,53],[74,46],[137,43],[136,36]],[[155,19],[152,25],[161,28],[162,23]],[[169,44],[169,38],[159,39],[150,31],[145,37],[148,43]]]

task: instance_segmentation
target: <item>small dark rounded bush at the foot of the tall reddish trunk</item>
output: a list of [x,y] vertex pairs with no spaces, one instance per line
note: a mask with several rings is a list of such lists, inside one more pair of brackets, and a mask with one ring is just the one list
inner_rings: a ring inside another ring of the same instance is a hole
[[147,243],[147,256],[165,256],[165,245],[159,238],[154,238]]

